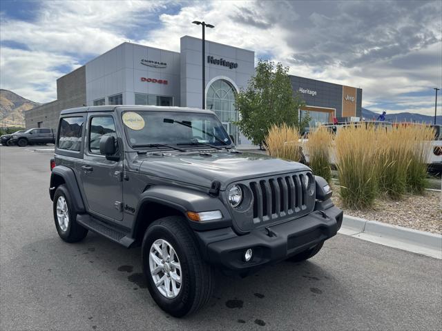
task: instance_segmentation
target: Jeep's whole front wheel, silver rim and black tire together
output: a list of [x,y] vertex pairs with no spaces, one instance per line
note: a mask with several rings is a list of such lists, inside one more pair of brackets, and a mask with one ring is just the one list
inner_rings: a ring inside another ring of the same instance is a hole
[[162,310],[183,317],[202,308],[213,292],[213,269],[203,261],[184,217],[164,217],[146,230],[142,265],[148,290]]

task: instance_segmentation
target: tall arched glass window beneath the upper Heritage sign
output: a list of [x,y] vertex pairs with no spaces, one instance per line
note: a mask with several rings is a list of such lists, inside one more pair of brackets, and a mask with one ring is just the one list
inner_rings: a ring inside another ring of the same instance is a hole
[[238,121],[238,111],[235,109],[236,90],[224,79],[211,83],[206,95],[206,108],[213,110],[220,118],[224,128],[233,134],[236,141],[238,130],[231,122]]

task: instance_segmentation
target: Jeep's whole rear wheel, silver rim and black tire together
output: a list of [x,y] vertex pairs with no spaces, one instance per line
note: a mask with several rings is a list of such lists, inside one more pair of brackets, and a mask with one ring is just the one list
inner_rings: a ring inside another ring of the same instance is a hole
[[61,239],[68,243],[81,241],[88,234],[88,230],[77,223],[70,194],[65,185],[59,185],[53,200],[55,228]]

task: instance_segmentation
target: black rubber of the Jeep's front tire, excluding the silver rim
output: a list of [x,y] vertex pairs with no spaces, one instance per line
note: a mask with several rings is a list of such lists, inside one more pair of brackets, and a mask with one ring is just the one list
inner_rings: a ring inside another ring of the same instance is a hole
[[[149,267],[152,244],[163,239],[173,246],[181,265],[181,287],[177,297],[169,299],[157,289]],[[142,243],[142,265],[153,300],[173,317],[191,314],[209,302],[213,292],[214,273],[203,261],[196,239],[184,217],[164,217],[149,225]]]

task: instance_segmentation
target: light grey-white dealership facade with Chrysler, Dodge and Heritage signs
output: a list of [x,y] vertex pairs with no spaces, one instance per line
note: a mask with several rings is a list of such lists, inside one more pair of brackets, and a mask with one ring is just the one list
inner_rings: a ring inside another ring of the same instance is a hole
[[[255,72],[255,54],[206,41],[206,109],[215,111],[238,143],[248,143],[232,123],[235,95]],[[180,52],[122,43],[86,63],[86,106],[109,104],[202,107],[202,41],[184,36]]]

